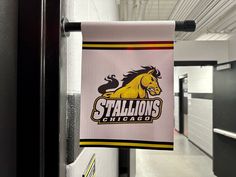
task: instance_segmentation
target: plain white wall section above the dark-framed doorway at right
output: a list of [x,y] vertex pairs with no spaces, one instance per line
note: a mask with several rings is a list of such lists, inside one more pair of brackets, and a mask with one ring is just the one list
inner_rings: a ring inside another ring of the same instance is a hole
[[174,60],[228,60],[227,41],[180,41],[176,42]]

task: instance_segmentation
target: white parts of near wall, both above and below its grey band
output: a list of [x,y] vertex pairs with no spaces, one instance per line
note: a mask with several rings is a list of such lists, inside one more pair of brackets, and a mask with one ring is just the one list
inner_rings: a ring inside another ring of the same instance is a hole
[[[68,0],[69,21],[118,20],[115,0]],[[68,94],[80,93],[81,86],[81,33],[71,33],[68,38]],[[118,150],[109,148],[85,148],[76,161],[67,166],[69,177],[82,176],[91,155],[96,154],[96,176],[118,176]]]

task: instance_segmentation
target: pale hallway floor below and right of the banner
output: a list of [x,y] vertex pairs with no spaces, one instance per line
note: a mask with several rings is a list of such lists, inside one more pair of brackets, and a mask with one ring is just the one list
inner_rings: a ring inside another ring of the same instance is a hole
[[174,151],[136,150],[136,177],[215,177],[212,159],[175,133]]

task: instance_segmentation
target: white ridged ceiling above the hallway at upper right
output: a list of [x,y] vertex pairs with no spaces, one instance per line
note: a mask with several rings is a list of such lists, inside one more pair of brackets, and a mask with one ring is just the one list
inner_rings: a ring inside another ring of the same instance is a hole
[[176,40],[227,40],[236,33],[236,0],[118,0],[121,21],[195,20]]

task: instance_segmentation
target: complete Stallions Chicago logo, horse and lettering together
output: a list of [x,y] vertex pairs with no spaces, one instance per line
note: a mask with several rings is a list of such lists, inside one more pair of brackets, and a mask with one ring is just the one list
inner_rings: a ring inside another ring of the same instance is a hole
[[153,66],[129,71],[121,87],[115,75],[106,77],[107,83],[98,88],[101,96],[94,101],[91,119],[98,124],[152,123],[162,111],[159,79],[161,73]]

